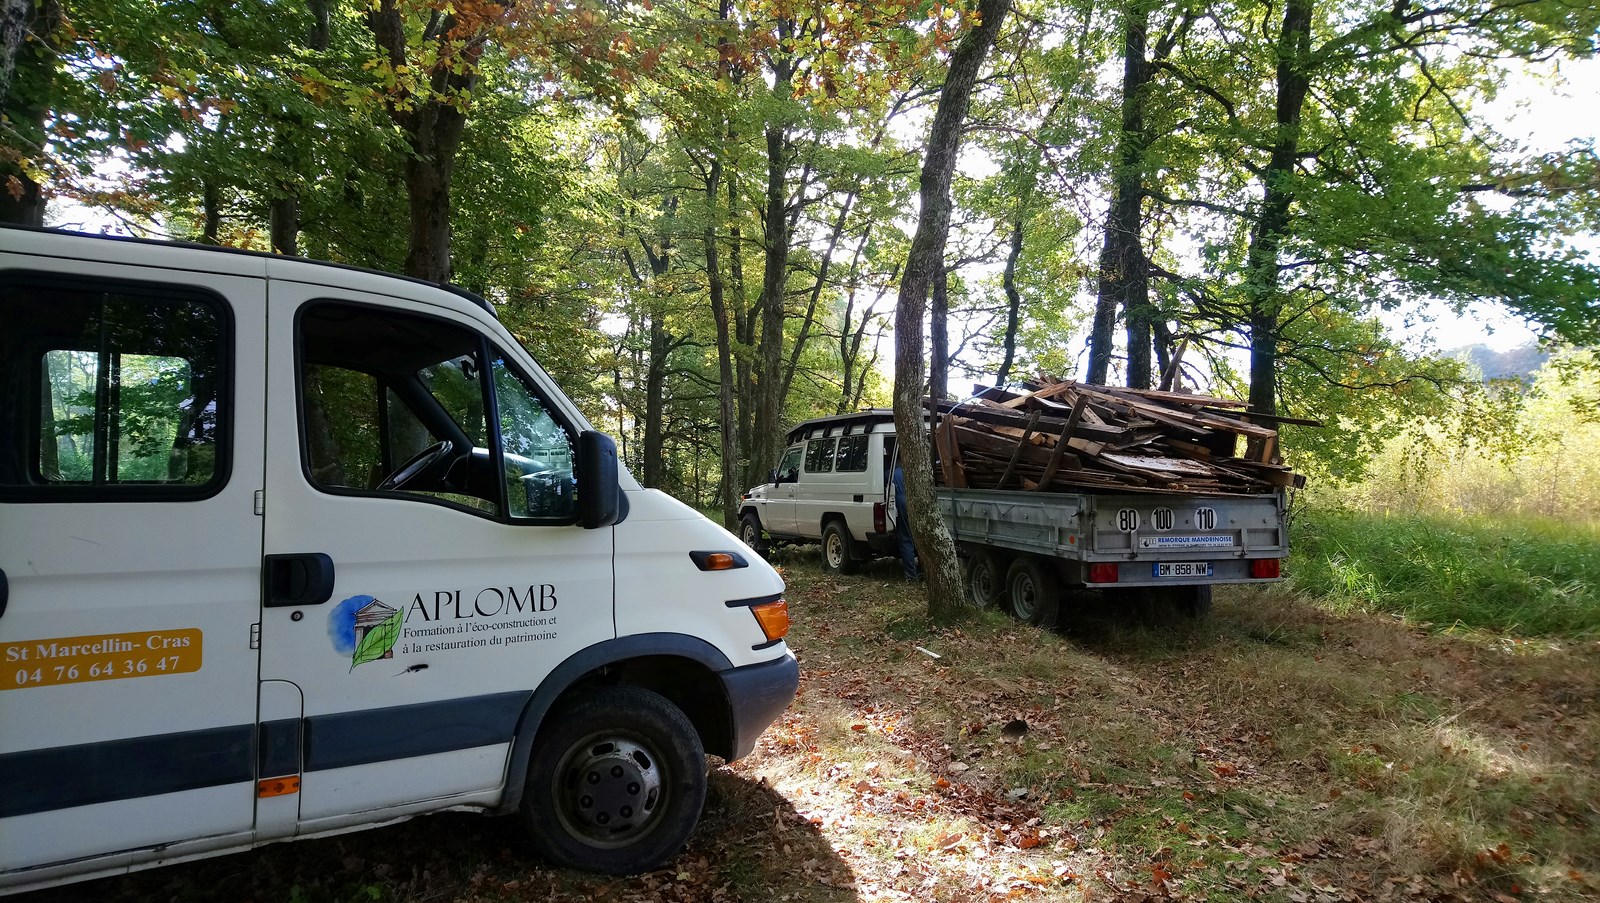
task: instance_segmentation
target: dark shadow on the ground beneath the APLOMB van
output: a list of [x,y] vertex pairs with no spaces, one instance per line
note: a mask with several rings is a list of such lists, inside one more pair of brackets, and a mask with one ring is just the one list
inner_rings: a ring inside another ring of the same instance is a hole
[[400,825],[272,844],[246,853],[70,884],[18,903],[226,900],[651,900],[755,903],[854,900],[827,839],[763,780],[718,767],[688,847],[666,868],[608,877],[549,868],[517,818],[440,813]]

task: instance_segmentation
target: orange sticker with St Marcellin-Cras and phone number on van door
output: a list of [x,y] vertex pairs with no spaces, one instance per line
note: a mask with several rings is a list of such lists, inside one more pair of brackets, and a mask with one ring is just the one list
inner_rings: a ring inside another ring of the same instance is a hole
[[200,631],[147,631],[0,644],[0,690],[200,671]]

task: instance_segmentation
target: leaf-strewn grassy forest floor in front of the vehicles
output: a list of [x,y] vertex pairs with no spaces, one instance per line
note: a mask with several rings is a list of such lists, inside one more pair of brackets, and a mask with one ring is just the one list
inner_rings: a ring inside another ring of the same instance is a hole
[[1331,613],[1288,586],[1218,592],[1198,626],[1078,607],[1058,632],[936,629],[894,562],[779,564],[800,696],[715,769],[667,869],[554,871],[510,820],[440,815],[29,903],[1600,895],[1592,639]]

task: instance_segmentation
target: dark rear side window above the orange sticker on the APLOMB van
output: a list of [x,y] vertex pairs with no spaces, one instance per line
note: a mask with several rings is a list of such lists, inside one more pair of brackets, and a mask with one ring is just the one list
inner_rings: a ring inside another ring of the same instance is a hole
[[[0,485],[106,498],[211,495],[226,480],[219,301],[184,287],[8,274],[0,290]],[[48,500],[50,492],[34,493]]]

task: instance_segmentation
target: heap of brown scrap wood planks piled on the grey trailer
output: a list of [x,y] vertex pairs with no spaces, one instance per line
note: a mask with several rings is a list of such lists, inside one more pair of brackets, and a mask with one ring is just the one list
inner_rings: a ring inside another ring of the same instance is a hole
[[1043,492],[1264,493],[1306,477],[1278,458],[1298,418],[1248,415],[1243,402],[1048,381],[939,403],[938,474],[949,487]]

